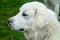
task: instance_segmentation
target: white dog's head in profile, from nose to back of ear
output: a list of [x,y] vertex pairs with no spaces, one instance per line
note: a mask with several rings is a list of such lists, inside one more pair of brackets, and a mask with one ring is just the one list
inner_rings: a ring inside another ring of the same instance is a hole
[[11,28],[14,30],[25,31],[35,27],[41,28],[47,23],[47,14],[45,13],[45,5],[39,2],[30,2],[22,5],[19,13],[8,19]]

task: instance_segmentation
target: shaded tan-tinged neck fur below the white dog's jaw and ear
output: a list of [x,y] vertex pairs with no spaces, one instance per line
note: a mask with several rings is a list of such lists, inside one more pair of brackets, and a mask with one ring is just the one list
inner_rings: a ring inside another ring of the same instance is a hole
[[28,30],[24,32],[27,40],[50,40],[49,38],[54,34],[55,28],[46,26],[37,31]]

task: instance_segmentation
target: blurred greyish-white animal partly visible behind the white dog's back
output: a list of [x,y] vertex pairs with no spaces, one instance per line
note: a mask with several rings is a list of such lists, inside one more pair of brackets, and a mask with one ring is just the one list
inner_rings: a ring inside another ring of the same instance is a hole
[[[60,0],[44,0],[46,6],[56,12],[56,15],[58,17],[59,15],[59,7],[60,7]],[[59,17],[58,17],[59,18]]]

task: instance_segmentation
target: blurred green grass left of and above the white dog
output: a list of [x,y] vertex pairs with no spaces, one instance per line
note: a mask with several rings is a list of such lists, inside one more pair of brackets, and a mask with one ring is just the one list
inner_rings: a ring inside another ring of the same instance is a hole
[[11,30],[7,19],[16,15],[19,8],[26,2],[44,0],[0,0],[0,40],[25,40],[22,32]]

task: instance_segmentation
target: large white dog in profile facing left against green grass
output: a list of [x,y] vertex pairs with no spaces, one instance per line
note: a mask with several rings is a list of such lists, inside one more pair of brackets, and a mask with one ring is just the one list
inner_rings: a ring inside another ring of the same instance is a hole
[[27,40],[60,40],[60,24],[56,14],[43,3],[29,2],[8,19],[11,28],[23,31]]

